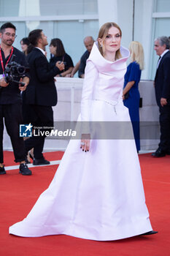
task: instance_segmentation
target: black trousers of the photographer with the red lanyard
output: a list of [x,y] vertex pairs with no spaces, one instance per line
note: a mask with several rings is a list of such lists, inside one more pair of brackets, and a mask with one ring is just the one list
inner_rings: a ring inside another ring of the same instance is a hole
[[4,162],[4,124],[12,143],[12,148],[15,155],[15,162],[21,162],[25,160],[25,146],[23,138],[19,136],[20,124],[23,124],[21,103],[0,105],[0,163]]

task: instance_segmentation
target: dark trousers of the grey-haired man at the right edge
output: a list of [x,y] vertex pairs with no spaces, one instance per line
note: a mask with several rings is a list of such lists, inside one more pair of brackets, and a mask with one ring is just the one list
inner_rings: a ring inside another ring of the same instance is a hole
[[159,147],[163,151],[170,150],[170,106],[165,105],[159,108],[160,110],[160,126],[161,126],[161,137]]

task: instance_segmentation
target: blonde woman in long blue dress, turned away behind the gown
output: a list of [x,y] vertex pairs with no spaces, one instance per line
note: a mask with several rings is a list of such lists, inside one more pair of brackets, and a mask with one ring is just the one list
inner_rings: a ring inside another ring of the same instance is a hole
[[125,82],[123,86],[123,102],[128,108],[131,117],[136,149],[140,150],[140,135],[139,135],[139,81],[141,72],[144,68],[144,51],[140,42],[132,41],[129,45],[131,53],[131,63],[128,65],[125,73]]

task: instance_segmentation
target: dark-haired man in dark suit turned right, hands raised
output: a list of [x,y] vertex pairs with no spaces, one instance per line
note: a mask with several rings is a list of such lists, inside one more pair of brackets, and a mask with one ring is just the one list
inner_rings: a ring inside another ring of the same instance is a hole
[[[47,37],[42,29],[35,29],[28,35],[31,45],[34,46],[28,54],[30,67],[30,83],[24,95],[25,103],[34,111],[34,127],[45,127],[45,131],[51,131],[53,127],[53,109],[57,104],[57,91],[54,77],[60,70],[64,69],[63,62],[56,63],[53,69],[45,56],[45,46],[48,44]],[[49,128],[47,128],[49,127]],[[42,128],[43,130],[43,128]],[[42,154],[45,143],[45,135],[32,136],[25,140],[26,153],[34,148],[33,165],[49,165]]]

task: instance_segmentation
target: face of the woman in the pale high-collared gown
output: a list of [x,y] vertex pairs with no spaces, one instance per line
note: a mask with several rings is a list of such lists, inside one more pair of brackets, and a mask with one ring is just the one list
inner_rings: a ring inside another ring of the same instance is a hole
[[120,49],[120,41],[121,37],[119,29],[112,26],[108,31],[107,37],[104,40],[101,39],[104,54],[116,53],[116,51]]

